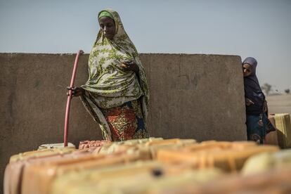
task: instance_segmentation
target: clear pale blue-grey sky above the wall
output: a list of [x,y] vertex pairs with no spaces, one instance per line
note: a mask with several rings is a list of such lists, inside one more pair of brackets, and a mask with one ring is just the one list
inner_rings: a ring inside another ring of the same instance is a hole
[[253,56],[260,84],[291,89],[291,0],[0,0],[0,52],[89,53],[103,8],[140,53]]

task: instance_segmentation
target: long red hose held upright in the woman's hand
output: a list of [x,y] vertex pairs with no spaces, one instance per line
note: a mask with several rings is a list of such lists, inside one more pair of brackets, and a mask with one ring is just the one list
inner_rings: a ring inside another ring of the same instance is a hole
[[[77,65],[79,61],[79,56],[82,55],[84,51],[79,50],[77,53],[77,56],[75,58],[74,68],[72,72],[72,78],[70,83],[70,88],[74,86],[75,77],[76,77],[76,71],[77,71]],[[72,99],[72,90],[69,90],[69,96],[67,96],[67,107],[65,108],[65,129],[64,129],[64,147],[67,147],[67,136],[68,136],[68,129],[69,129],[69,117],[70,117],[70,105],[71,105],[71,99]]]

